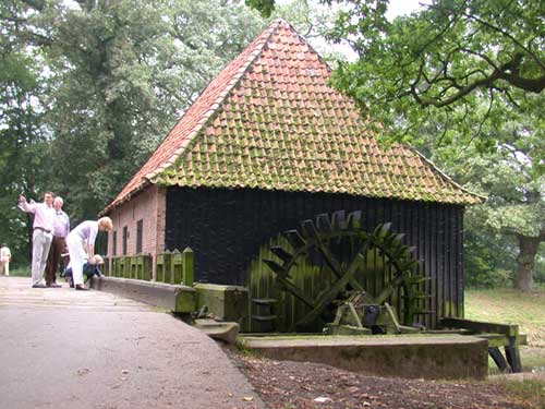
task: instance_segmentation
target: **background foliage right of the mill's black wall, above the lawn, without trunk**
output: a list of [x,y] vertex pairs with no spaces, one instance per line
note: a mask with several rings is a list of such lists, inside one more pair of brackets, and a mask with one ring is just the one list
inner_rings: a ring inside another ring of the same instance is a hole
[[540,260],[538,246],[530,246],[535,248],[533,251],[526,245],[545,240],[541,130],[520,117],[517,122],[498,127],[496,135],[505,143],[492,153],[463,146],[457,139],[452,145],[431,152],[465,188],[487,196],[485,204],[471,207],[465,214],[470,286],[492,287],[511,279],[519,285],[524,275],[532,273],[536,280],[541,279],[540,264],[534,265]]

